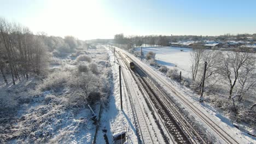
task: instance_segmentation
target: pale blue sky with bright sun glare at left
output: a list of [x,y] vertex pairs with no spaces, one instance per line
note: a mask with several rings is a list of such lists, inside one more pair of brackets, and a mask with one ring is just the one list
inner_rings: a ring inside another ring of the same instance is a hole
[[0,17],[32,32],[86,39],[256,33],[255,0],[0,0]]

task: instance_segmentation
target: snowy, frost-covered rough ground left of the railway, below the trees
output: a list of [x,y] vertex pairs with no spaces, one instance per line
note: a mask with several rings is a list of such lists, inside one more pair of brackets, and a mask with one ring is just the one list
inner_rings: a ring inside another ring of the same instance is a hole
[[[96,76],[104,82],[109,67],[106,50],[86,53],[92,58],[90,63],[97,64]],[[92,143],[96,130],[92,112],[86,105],[76,105],[78,94],[67,84],[79,76],[77,66],[81,62],[75,57],[55,57],[44,77],[30,75],[29,80],[23,79],[15,86],[11,82],[8,86],[1,84],[0,143]],[[98,117],[100,103],[91,107]]]

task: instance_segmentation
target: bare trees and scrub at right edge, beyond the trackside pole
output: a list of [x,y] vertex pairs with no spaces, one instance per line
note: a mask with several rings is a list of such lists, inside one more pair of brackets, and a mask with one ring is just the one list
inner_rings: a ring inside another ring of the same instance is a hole
[[243,51],[205,50],[194,45],[191,52],[191,88],[200,92],[203,63],[207,62],[206,101],[213,103],[231,119],[255,127],[256,57]]

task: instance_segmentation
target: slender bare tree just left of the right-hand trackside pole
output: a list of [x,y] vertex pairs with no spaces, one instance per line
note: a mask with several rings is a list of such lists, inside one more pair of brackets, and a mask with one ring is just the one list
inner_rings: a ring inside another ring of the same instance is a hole
[[193,50],[190,53],[191,56],[191,73],[192,73],[192,81],[196,80],[197,71],[200,67],[201,59],[203,52],[205,51],[204,47],[200,44],[193,45]]

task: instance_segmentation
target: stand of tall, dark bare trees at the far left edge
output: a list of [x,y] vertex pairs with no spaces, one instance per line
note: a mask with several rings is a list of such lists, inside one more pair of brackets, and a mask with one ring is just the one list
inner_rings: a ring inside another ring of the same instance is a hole
[[39,75],[44,69],[48,52],[41,35],[34,35],[27,27],[0,18],[0,68],[5,83],[4,71],[15,79],[28,79],[30,73]]

